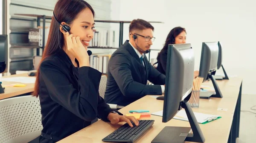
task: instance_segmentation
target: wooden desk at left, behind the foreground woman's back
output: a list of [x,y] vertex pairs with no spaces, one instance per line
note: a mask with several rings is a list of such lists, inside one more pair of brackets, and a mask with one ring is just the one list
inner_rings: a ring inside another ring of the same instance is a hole
[[[29,77],[27,73],[23,73],[23,74],[11,75],[11,76],[3,76],[2,79],[18,77],[18,76]],[[0,79],[0,81],[1,81],[1,79]],[[16,83],[19,83],[19,82],[2,81],[2,86],[9,85],[9,84],[16,84]],[[14,96],[21,95],[21,94],[25,94],[25,93],[33,92],[34,85],[35,84],[26,84],[26,87],[5,87],[5,90],[4,90],[5,93],[0,94],[0,100],[5,99],[5,98],[14,97]]]

